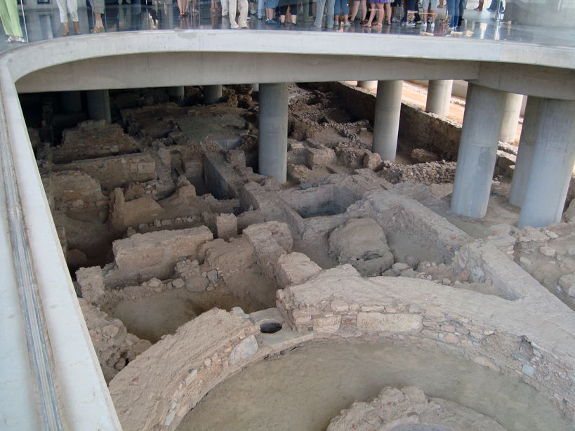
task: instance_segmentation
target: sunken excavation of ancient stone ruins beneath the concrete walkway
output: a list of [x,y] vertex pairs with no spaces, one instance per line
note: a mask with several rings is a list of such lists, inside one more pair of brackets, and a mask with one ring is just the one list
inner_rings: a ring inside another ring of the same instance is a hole
[[480,197],[461,119],[404,97],[389,157],[379,93],[283,90],[286,125],[261,84],[20,95],[121,427],[574,430],[575,182],[531,222],[532,126]]

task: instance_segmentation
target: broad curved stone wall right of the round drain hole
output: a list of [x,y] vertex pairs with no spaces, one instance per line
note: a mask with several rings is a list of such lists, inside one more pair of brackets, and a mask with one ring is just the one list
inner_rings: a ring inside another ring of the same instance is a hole
[[[499,276],[513,265],[507,260]],[[419,279],[362,279],[343,265],[277,294],[298,333],[439,349],[515,374],[575,416],[575,317],[541,286],[510,301]]]

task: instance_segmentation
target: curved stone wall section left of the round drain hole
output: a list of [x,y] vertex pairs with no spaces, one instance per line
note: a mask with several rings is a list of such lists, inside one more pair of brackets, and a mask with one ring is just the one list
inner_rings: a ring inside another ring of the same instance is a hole
[[[218,383],[312,336],[260,334],[248,315],[214,308],[140,354],[110,382],[125,431],[174,430]],[[278,334],[279,334],[278,333]]]

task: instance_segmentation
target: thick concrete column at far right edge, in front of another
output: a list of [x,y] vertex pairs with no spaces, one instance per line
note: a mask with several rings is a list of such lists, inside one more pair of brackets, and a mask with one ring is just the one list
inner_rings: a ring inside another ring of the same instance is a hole
[[575,100],[541,99],[519,227],[561,220],[575,162]]

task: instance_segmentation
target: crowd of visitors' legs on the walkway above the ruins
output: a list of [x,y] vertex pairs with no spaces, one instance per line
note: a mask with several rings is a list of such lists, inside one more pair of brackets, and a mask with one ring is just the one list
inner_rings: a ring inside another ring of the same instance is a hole
[[[75,34],[81,34],[78,16],[78,0],[54,0],[60,12],[62,36],[70,34],[68,20],[72,21]],[[83,0],[85,1],[85,0]],[[105,15],[105,0],[88,0],[93,16],[91,32],[105,31],[103,15]],[[124,0],[117,0],[121,4]],[[128,4],[132,1],[125,0]],[[147,1],[147,0],[146,0]],[[202,0],[199,0],[202,1]],[[203,0],[206,1],[206,0]],[[463,11],[467,0],[210,0],[211,18],[221,15],[229,19],[232,29],[249,28],[249,20],[262,20],[266,27],[285,26],[296,27],[299,22],[307,22],[306,29],[322,29],[333,27],[374,27],[384,25],[405,25],[433,32],[437,19],[437,8],[445,8],[446,26],[454,31],[461,26]],[[444,5],[445,1],[445,5]],[[190,15],[197,16],[198,0],[173,0],[178,5],[180,20],[185,24]],[[191,4],[190,4],[191,3]],[[167,2],[166,4],[170,4]],[[482,11],[483,0],[475,11]],[[0,0],[0,18],[4,32],[8,37],[6,43],[26,42],[20,25],[20,14],[17,0]],[[491,0],[489,11],[494,8],[503,9],[501,0]],[[23,11],[22,11],[23,13]],[[443,14],[442,14],[443,15]],[[214,22],[215,24],[215,22]],[[222,26],[227,22],[222,21]],[[251,27],[260,27],[251,25]],[[182,27],[180,28],[187,28]]]

